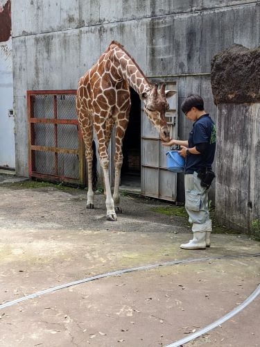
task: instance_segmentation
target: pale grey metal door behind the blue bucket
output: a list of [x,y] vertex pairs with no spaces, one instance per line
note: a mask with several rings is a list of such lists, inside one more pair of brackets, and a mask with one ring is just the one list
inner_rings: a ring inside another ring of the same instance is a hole
[[[174,96],[168,99],[170,109],[166,119],[170,127],[171,138],[177,138],[177,85],[166,83],[166,90],[175,90]],[[177,174],[166,169],[166,152],[170,147],[164,147],[157,130],[144,113],[144,103],[141,106],[141,194],[176,201]]]

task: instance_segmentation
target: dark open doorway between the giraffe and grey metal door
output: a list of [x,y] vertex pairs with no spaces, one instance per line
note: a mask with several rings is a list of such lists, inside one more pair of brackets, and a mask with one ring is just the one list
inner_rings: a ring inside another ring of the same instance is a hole
[[123,165],[121,189],[141,190],[141,100],[130,88],[131,110],[128,128],[123,139]]

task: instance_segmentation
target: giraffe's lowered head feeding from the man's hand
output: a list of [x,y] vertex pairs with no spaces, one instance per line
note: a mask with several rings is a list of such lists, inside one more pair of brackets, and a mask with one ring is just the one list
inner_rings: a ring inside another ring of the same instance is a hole
[[164,142],[170,140],[170,130],[166,122],[165,112],[169,109],[167,98],[173,96],[175,91],[165,90],[165,84],[158,90],[158,85],[154,85],[148,92],[141,94],[144,100],[144,112],[152,124],[159,131],[159,135]]

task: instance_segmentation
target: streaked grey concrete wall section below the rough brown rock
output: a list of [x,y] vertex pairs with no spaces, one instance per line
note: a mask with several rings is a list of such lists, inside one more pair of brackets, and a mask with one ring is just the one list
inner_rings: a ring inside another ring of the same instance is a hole
[[260,103],[218,105],[216,217],[247,232],[260,219]]

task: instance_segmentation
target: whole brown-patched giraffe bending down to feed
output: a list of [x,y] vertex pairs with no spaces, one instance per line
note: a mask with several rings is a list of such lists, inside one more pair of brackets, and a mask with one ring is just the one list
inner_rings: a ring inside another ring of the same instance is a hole
[[[123,164],[122,144],[128,126],[130,112],[130,89],[132,87],[144,100],[144,111],[159,131],[164,142],[170,139],[165,112],[169,105],[166,98],[175,94],[166,91],[165,85],[148,82],[135,60],[125,51],[119,42],[112,41],[96,64],[89,69],[78,82],[76,110],[78,122],[85,142],[87,159],[88,192],[87,208],[94,208],[92,187],[93,128],[98,140],[98,154],[103,169],[105,204],[107,220],[116,221],[116,212],[121,213],[119,183]],[[109,180],[110,158],[107,146],[110,143],[112,129],[115,126],[114,154],[114,194],[112,196]],[[116,209],[115,209],[116,208]],[[115,211],[116,210],[116,211]]]

